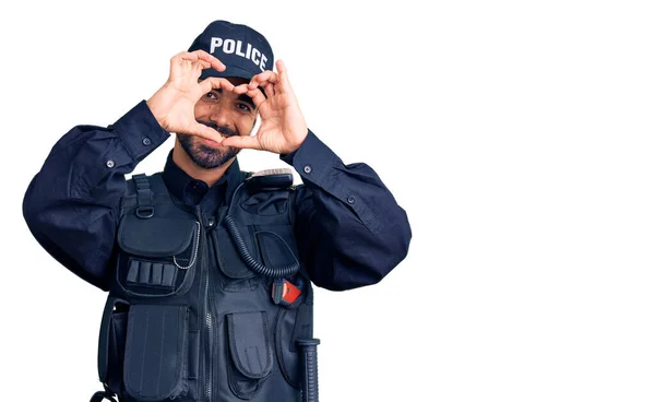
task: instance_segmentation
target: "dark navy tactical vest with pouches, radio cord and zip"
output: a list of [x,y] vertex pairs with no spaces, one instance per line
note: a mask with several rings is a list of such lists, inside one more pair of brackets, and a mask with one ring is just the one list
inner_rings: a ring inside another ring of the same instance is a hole
[[105,391],[92,402],[318,401],[291,182],[241,172],[207,215],[174,199],[160,173],[128,180],[99,333]]

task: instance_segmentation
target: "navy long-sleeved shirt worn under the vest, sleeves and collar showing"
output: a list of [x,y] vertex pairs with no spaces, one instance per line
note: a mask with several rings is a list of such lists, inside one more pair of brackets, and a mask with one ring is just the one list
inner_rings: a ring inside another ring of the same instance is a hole
[[[169,135],[145,100],[107,128],[72,128],[52,146],[25,192],[23,216],[35,239],[67,269],[108,291],[124,175]],[[302,179],[293,197],[295,232],[317,286],[343,291],[370,285],[406,257],[412,238],[407,214],[370,166],[344,165],[311,130],[298,150],[279,158]],[[239,172],[235,159],[209,188],[180,169],[169,153],[164,179],[182,202],[214,213],[238,185]]]

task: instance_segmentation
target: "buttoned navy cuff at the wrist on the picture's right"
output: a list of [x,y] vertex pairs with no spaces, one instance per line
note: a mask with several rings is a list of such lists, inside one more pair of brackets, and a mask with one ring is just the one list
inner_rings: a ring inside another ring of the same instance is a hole
[[279,158],[294,166],[303,182],[310,180],[319,184],[327,172],[342,164],[341,158],[309,129],[300,147],[279,155]]

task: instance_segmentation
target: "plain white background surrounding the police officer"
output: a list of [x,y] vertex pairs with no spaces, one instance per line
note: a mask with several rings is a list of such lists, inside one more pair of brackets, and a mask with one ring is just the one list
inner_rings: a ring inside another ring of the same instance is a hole
[[[106,294],[32,238],[29,180],[72,127],[147,99],[222,19],[266,36],[312,131],[373,167],[412,224],[380,284],[317,292],[322,401],[655,400],[650,5],[4,2],[0,399],[100,389]],[[163,168],[172,143],[135,172]]]

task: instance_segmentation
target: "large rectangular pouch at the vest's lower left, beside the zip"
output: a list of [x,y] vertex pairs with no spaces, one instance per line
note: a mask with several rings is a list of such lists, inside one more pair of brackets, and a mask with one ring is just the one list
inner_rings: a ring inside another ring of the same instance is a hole
[[[133,305],[128,312],[123,381],[128,401],[189,393],[189,308]],[[121,399],[122,400],[122,399]]]

